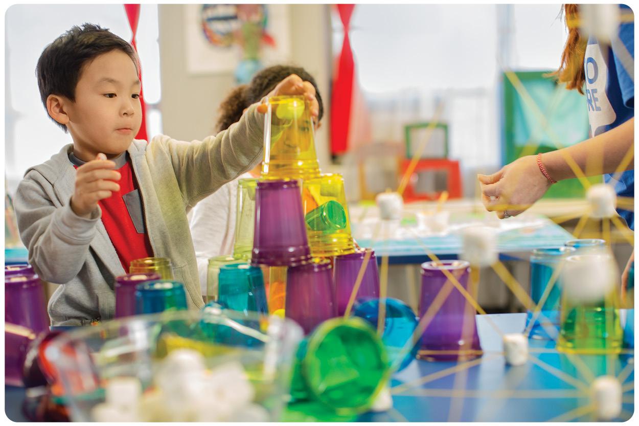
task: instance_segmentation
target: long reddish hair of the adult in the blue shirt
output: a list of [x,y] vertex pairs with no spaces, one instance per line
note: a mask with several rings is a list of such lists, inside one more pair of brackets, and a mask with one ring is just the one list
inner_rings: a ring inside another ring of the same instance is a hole
[[586,81],[583,58],[588,37],[579,31],[579,10],[576,4],[564,4],[564,19],[568,28],[568,40],[561,54],[559,69],[550,75],[557,77],[559,83],[566,83],[567,89],[576,89],[583,95],[583,84]]

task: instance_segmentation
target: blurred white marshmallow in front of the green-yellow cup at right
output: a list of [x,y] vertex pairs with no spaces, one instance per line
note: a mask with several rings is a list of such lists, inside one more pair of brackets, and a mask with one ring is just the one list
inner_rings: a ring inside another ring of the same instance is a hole
[[564,295],[580,303],[601,301],[615,287],[616,269],[605,251],[568,256],[561,271]]

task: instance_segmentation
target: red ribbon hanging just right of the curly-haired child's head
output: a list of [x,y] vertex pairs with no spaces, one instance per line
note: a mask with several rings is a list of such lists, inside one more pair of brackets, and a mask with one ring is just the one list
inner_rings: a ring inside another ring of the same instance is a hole
[[339,54],[339,65],[330,101],[330,151],[334,155],[343,154],[348,149],[353,75],[355,74],[355,61],[353,61],[353,51],[348,38],[353,9],[355,4],[337,4],[337,12],[344,26],[344,42]]

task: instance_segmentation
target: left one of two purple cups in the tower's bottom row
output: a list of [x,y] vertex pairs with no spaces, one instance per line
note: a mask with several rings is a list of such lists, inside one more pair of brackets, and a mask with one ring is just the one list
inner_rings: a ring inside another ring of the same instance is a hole
[[316,259],[288,268],[284,313],[302,326],[305,335],[321,322],[337,316],[330,260]]

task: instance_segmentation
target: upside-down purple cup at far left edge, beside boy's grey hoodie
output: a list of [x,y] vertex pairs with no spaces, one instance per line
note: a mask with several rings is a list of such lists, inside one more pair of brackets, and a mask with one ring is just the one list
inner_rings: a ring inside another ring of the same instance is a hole
[[4,277],[4,321],[35,333],[49,331],[49,314],[42,281],[36,274]]

